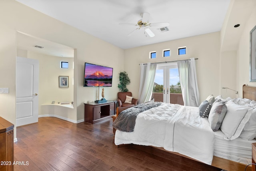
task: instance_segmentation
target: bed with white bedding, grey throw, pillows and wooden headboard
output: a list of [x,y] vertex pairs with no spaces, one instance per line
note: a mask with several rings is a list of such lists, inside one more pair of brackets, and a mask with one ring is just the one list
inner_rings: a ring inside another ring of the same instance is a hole
[[[120,115],[117,113],[113,123],[116,145],[150,145],[225,170],[241,170],[251,163],[252,143],[256,142],[256,87],[243,85],[243,98],[209,95],[200,107],[148,105],[137,105],[135,111],[118,109]],[[136,114],[130,118],[124,114],[127,112]]]

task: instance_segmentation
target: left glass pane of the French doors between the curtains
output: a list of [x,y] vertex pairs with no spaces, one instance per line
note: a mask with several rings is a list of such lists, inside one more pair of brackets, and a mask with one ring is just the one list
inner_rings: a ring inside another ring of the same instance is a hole
[[164,89],[163,86],[164,86],[164,70],[157,69],[155,80],[154,80],[153,93],[152,93],[152,98],[154,98],[155,101],[163,102],[163,89]]

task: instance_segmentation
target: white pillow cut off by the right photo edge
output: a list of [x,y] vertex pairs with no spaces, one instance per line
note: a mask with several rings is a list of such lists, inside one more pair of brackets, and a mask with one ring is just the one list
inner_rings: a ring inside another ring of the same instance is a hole
[[252,110],[252,115],[239,137],[245,140],[252,140],[256,137],[256,109]]

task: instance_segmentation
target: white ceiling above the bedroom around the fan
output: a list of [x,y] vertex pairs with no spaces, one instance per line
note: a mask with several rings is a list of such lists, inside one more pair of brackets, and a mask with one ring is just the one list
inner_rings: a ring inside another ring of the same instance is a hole
[[[122,49],[176,40],[220,31],[230,0],[16,0],[52,18],[114,44]],[[149,22],[169,22],[168,32],[150,29],[145,36],[134,23],[141,13],[150,13]]]

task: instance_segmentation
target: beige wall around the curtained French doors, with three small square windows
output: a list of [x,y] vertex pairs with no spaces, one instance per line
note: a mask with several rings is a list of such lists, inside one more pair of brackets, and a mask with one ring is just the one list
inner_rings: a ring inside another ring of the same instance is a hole
[[[186,55],[178,56],[178,48],[186,46]],[[170,57],[162,57],[162,51],[170,49]],[[150,59],[149,54],[156,51],[157,58]],[[124,70],[130,77],[131,84],[127,87],[132,95],[138,98],[140,63],[165,62],[198,58],[196,60],[196,72],[198,76],[198,87],[200,101],[208,95],[219,95],[220,84],[220,32],[193,36],[138,48],[131,48],[124,51]]]

